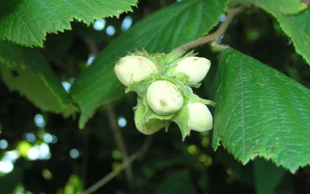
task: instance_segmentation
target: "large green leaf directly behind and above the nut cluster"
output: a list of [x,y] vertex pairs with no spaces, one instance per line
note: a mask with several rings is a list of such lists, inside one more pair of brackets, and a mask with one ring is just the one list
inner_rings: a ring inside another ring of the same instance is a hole
[[143,47],[150,53],[172,49],[205,35],[219,22],[229,0],[185,0],[173,3],[145,17],[120,35],[101,52],[72,87],[72,96],[81,108],[79,128],[95,108],[109,97],[120,97],[124,86],[114,75],[115,62],[127,51]]

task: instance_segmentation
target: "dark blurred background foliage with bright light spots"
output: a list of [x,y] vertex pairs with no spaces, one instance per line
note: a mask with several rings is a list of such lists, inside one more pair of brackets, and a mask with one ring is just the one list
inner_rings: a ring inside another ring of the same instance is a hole
[[[80,72],[92,65],[95,54],[132,24],[174,0],[140,0],[134,12],[104,18],[86,26],[73,21],[72,31],[48,34],[41,49],[69,91]],[[219,18],[223,19],[222,16]],[[259,8],[237,16],[219,40],[310,88],[310,66],[294,51],[292,41],[276,21]],[[212,61],[195,92],[208,98],[217,70],[217,53],[208,45],[197,48]],[[64,119],[35,108],[25,97],[0,82],[0,193],[75,194],[118,168],[118,150],[104,106],[83,130],[78,118]],[[134,94],[115,103],[118,125],[128,153],[139,150],[146,136],[133,122]],[[291,174],[260,158],[245,166],[223,148],[210,146],[211,132],[192,132],[185,142],[176,125],[155,133],[142,160],[132,164],[134,177],[124,172],[100,188],[100,194],[309,194],[310,167]]]

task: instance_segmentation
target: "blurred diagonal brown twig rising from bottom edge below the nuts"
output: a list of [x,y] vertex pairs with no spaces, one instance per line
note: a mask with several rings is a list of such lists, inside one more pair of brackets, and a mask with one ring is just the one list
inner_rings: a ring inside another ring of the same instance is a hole
[[140,158],[141,156],[144,156],[149,149],[149,146],[151,145],[152,136],[149,136],[146,138],[146,140],[143,143],[142,148],[140,151],[137,151],[133,153],[127,160],[125,160],[120,167],[110,172],[105,177],[101,178],[99,181],[97,181],[95,184],[93,184],[91,187],[89,187],[87,190],[83,192],[83,194],[92,194],[93,192],[97,191],[100,187],[107,184],[111,179],[116,177],[122,170],[124,170],[128,165],[130,165],[132,162]]

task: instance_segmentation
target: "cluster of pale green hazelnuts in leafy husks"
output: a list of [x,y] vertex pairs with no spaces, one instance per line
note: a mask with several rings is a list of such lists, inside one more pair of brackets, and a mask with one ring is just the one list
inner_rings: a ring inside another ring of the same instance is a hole
[[190,130],[212,129],[212,115],[206,104],[213,104],[193,93],[191,87],[200,87],[210,68],[210,61],[186,55],[149,54],[145,50],[128,53],[115,65],[114,71],[126,92],[138,94],[134,107],[136,128],[143,134],[152,134],[168,127],[171,121],[181,129],[183,140]]

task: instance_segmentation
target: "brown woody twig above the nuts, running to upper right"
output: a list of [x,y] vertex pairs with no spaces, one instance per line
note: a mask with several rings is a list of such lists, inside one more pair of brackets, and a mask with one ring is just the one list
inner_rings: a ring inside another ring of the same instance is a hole
[[217,41],[222,34],[224,34],[229,26],[229,24],[231,23],[231,21],[233,20],[233,17],[240,14],[241,12],[243,12],[246,8],[246,5],[231,9],[227,16],[226,19],[223,23],[221,23],[217,29],[216,32],[211,33],[207,36],[204,36],[202,38],[193,40],[189,43],[186,43],[185,45],[182,45],[181,47],[178,47],[176,49],[173,49],[174,52],[183,52],[186,51],[188,49],[192,49],[194,47],[212,42],[212,41]]

